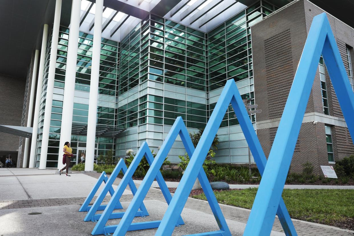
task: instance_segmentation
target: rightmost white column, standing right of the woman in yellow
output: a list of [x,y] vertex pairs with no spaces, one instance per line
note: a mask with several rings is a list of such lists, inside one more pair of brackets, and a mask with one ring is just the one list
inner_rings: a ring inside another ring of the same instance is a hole
[[87,121],[85,171],[93,171],[95,155],[99,58],[101,53],[103,0],[96,0],[95,26],[93,30],[92,65],[90,82],[89,119]]

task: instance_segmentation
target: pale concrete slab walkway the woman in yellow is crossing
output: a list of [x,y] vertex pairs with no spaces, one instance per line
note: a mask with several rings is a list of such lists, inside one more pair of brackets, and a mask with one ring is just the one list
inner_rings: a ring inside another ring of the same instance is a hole
[[[0,200],[82,197],[87,196],[97,182],[96,178],[82,173],[66,177],[55,172],[56,169],[0,168]],[[131,194],[131,191],[126,190],[124,194]]]

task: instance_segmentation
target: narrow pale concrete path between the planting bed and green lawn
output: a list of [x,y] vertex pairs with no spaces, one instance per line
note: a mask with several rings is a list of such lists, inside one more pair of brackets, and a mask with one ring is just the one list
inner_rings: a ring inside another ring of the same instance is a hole
[[[141,184],[142,180],[134,180],[134,183]],[[166,182],[167,187],[177,188],[179,182]],[[249,189],[258,188],[259,184],[230,184],[230,189]],[[159,188],[159,184],[154,181],[152,187]],[[295,185],[286,184],[285,189],[354,189],[353,185]]]

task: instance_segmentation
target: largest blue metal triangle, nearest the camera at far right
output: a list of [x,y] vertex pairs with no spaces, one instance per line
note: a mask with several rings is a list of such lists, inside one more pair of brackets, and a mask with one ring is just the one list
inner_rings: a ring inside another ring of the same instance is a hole
[[[354,142],[354,93],[326,13],[313,18],[244,235],[269,235],[318,68],[325,65]],[[162,223],[161,223],[162,224]]]

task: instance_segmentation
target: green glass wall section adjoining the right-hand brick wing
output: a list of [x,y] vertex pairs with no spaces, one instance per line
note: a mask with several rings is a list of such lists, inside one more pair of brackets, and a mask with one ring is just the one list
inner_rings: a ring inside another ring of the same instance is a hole
[[[228,79],[234,79],[242,99],[255,104],[251,26],[278,8],[265,1],[242,10],[207,34],[209,116]],[[218,131],[216,161],[248,163],[248,145],[230,105]],[[250,115],[256,129],[256,115]]]

